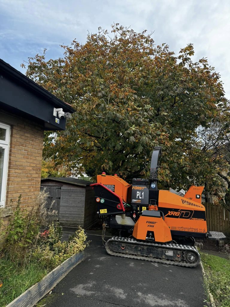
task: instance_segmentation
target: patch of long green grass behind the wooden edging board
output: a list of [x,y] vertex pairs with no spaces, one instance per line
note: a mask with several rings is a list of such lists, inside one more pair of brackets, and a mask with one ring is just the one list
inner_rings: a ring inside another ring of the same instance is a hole
[[25,268],[10,260],[0,259],[0,306],[4,307],[29,287],[39,282],[47,271],[37,262],[30,262]]

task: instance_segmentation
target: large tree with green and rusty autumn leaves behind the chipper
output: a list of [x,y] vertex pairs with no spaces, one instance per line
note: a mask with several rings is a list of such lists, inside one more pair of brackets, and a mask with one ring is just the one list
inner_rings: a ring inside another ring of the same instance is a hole
[[192,60],[192,44],[175,56],[146,31],[114,24],[111,35],[99,28],[85,44],[61,47],[63,58],[36,55],[26,72],[76,109],[65,132],[46,134],[45,157],[90,176],[105,170],[130,179],[148,175],[151,151],[162,146],[161,186],[202,184],[207,161],[208,176],[218,176],[212,158],[205,160],[210,152],[197,148],[198,134],[227,103],[219,74],[205,58]]

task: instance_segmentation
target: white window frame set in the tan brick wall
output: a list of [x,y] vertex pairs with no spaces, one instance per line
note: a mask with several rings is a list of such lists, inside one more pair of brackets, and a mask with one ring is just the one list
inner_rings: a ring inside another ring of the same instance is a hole
[[4,149],[2,190],[1,190],[1,199],[0,199],[0,208],[3,208],[5,207],[6,204],[6,183],[8,175],[8,162],[9,162],[9,150],[10,150],[10,125],[0,122],[0,128],[6,129],[6,140],[5,141],[0,140],[0,148]]

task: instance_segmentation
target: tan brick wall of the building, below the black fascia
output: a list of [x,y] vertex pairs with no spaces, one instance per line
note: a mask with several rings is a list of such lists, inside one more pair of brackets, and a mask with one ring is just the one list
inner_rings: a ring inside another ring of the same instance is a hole
[[[34,122],[0,111],[0,122],[11,126],[5,208],[0,208],[2,231],[21,194],[21,207],[33,206],[40,191],[44,129]],[[11,201],[12,200],[12,201]],[[13,202],[13,203],[12,203]],[[0,244],[3,238],[0,238]]]

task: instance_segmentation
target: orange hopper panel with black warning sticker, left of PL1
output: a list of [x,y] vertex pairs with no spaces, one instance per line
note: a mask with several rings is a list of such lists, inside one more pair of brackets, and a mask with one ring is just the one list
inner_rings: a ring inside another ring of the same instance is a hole
[[131,186],[125,180],[118,176],[98,175],[97,183],[101,183],[115,192],[121,197],[124,202],[128,202],[128,197],[131,197]]

